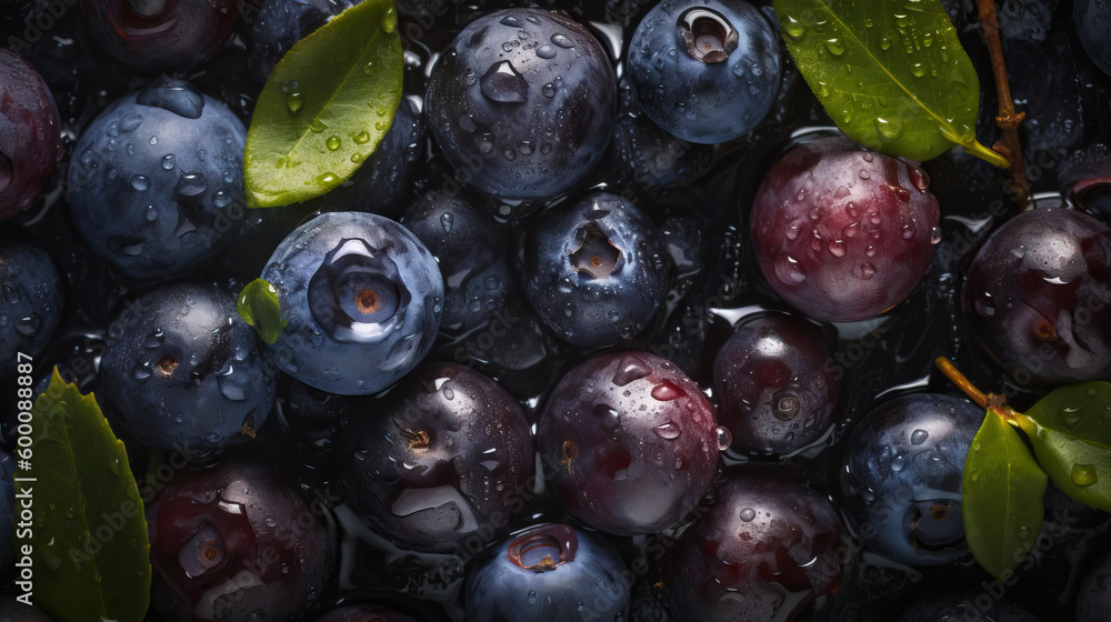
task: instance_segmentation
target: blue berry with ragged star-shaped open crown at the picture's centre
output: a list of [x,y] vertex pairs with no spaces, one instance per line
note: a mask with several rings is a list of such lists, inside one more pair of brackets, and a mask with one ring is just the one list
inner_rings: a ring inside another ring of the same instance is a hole
[[520,249],[537,315],[581,348],[628,343],[651,323],[670,285],[662,233],[617,194],[598,192],[533,217]]

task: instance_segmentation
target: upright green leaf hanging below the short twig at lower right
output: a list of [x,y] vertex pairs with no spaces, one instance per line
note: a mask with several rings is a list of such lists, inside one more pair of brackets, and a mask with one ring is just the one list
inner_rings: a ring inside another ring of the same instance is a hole
[[989,410],[964,460],[961,515],[977,562],[1000,581],[1038,538],[1047,483],[1022,437]]

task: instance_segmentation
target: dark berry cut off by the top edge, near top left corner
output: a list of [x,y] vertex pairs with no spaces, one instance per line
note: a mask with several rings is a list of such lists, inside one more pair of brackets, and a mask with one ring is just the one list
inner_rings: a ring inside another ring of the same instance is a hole
[[81,0],[93,40],[139,73],[191,69],[231,37],[234,0]]

